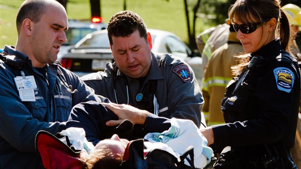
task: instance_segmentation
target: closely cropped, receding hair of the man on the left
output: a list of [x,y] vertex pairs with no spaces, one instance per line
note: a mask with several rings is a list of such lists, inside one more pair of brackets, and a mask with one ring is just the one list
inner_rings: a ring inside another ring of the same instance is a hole
[[17,32],[19,33],[22,22],[26,18],[29,18],[33,23],[38,22],[46,11],[47,3],[46,0],[25,0],[17,13]]

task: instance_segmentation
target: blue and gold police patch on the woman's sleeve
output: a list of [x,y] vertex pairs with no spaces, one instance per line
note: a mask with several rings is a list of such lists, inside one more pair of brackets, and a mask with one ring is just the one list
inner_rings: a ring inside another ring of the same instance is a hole
[[280,67],[274,69],[274,75],[277,88],[289,93],[295,80],[294,73],[287,68]]

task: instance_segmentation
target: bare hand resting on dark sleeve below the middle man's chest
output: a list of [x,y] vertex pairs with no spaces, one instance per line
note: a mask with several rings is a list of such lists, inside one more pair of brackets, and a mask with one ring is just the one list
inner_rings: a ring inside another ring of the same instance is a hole
[[109,120],[105,124],[107,126],[115,126],[120,124],[124,119],[130,120],[133,124],[144,124],[145,119],[148,117],[149,112],[146,110],[137,109],[128,104],[116,104],[116,103],[101,103],[110,110],[112,110],[117,116],[118,120]]

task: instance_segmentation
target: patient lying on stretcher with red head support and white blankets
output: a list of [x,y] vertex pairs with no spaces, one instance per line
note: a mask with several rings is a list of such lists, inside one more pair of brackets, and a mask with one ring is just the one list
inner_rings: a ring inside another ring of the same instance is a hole
[[151,120],[144,124],[147,134],[129,141],[119,137],[131,135],[131,121],[106,127],[105,121],[116,117],[99,103],[79,104],[71,116],[60,136],[45,131],[36,136],[46,169],[152,169],[156,165],[160,169],[180,165],[201,169],[213,157],[206,138],[191,120],[148,116]]

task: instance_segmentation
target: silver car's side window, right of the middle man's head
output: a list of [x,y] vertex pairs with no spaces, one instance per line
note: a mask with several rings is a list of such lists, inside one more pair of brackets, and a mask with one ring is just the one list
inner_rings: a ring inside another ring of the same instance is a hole
[[175,37],[167,36],[165,38],[168,53],[187,57],[186,47]]

